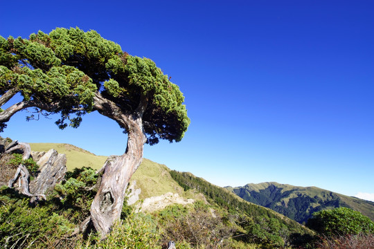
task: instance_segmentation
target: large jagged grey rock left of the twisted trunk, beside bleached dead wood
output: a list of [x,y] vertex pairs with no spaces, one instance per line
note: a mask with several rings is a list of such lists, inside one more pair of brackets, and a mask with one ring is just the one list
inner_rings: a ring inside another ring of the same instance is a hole
[[60,183],[66,173],[66,156],[58,154],[55,149],[48,152],[32,151],[33,160],[39,165],[39,174],[30,182],[32,194],[44,194],[46,190]]

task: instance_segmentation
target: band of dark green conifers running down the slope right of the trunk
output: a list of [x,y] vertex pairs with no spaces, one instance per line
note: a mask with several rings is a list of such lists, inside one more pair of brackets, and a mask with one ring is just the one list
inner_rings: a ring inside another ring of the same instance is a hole
[[176,171],[170,171],[170,175],[185,190],[195,189],[202,192],[208,201],[226,210],[229,216],[236,217],[231,218],[231,223],[240,225],[242,230],[246,231],[245,235],[238,237],[241,241],[257,243],[262,248],[274,248],[291,241],[291,234],[310,233],[295,221],[283,219],[271,210],[242,201],[222,187],[212,185],[202,178]]

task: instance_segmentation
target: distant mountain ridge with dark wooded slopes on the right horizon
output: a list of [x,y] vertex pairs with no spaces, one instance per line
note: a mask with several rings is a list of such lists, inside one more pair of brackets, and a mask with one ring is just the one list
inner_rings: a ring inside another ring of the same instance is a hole
[[339,207],[359,211],[374,221],[374,202],[322,190],[319,187],[296,187],[271,182],[225,188],[245,201],[270,208],[299,223],[308,221],[314,212]]

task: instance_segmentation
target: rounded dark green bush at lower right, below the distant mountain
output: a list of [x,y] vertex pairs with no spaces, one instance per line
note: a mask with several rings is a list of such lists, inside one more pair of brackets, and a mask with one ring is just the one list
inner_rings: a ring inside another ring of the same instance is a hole
[[309,219],[307,226],[328,237],[360,233],[374,233],[374,222],[349,208],[322,210]]

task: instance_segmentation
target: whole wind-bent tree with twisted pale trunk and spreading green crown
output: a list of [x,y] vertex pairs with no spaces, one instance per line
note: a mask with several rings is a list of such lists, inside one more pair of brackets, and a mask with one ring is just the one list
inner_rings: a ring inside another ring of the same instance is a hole
[[92,221],[103,237],[121,216],[145,142],[179,142],[190,124],[184,96],[168,75],[94,30],[56,28],[29,39],[0,37],[0,107],[17,93],[22,100],[1,109],[1,131],[17,111],[33,107],[28,120],[60,113],[60,129],[76,128],[84,114],[98,111],[127,133],[125,152],[105,163],[91,216],[82,224]]

